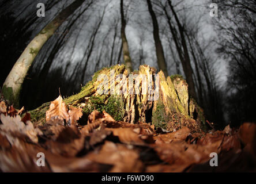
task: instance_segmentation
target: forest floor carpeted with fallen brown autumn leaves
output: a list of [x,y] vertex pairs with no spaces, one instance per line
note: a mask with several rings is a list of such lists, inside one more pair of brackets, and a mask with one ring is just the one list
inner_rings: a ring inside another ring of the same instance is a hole
[[253,123],[198,135],[187,127],[167,132],[115,121],[95,110],[81,125],[81,109],[68,109],[61,97],[51,102],[44,124],[31,122],[29,113],[5,101],[0,114],[3,172],[256,171]]

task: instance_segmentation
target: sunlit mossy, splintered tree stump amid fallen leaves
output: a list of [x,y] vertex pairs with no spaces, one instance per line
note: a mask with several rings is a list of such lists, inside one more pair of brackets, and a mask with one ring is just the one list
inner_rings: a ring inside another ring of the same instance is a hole
[[[189,98],[186,81],[180,75],[165,78],[163,71],[157,75],[155,72],[155,68],[143,65],[139,71],[131,73],[131,78],[124,65],[103,68],[80,93],[63,101],[66,105],[82,108],[84,122],[96,109],[106,110],[116,121],[152,122],[156,128],[168,131],[189,127],[192,132],[201,132],[205,125],[204,114]],[[104,90],[103,85],[106,85]],[[118,89],[127,90],[127,93],[118,93]],[[100,90],[105,93],[101,94]],[[49,106],[50,102],[32,110],[32,120],[44,123]]]

